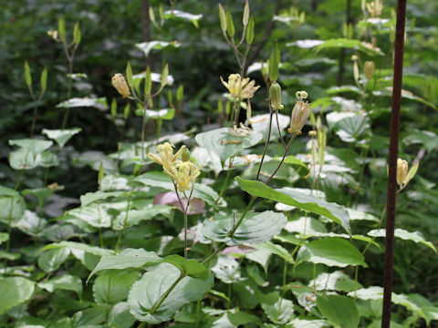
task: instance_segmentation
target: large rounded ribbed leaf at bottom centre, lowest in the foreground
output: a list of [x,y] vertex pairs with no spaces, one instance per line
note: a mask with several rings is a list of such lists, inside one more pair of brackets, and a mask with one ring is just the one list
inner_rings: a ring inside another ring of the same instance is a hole
[[141,280],[135,282],[130,288],[128,296],[130,313],[141,322],[157,324],[168,321],[184,304],[203,299],[205,292],[208,292],[214,283],[212,274],[205,282],[184,277],[176,284],[156,312],[151,314],[153,305],[158,302],[164,292],[169,290],[180,275],[180,270],[169,263],[162,263],[150,272],[146,272]]

